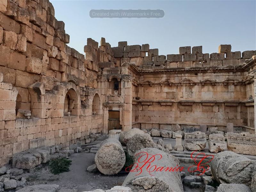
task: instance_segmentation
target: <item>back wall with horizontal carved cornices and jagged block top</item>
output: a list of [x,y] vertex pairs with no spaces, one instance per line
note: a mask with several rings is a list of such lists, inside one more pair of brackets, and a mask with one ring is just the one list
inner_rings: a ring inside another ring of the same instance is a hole
[[139,68],[133,81],[134,127],[172,129],[178,123],[225,130],[231,122],[254,131],[254,79],[248,73],[255,67],[249,68],[246,60],[256,51],[241,54],[231,52],[231,45],[221,45],[219,53],[202,53],[202,46],[192,47],[191,53],[189,46],[165,56],[148,44],[126,42],[112,50],[117,66],[120,60]]

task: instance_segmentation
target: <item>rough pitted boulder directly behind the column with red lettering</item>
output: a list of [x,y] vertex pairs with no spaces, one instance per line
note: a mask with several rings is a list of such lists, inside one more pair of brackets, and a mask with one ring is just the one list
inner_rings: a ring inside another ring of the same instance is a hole
[[153,148],[155,143],[148,133],[135,134],[127,143],[127,152],[130,156],[142,148]]

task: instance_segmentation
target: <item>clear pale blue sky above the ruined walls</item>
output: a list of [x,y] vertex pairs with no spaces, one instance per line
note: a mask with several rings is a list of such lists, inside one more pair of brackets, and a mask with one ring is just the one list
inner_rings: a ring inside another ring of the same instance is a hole
[[[65,22],[70,47],[84,53],[86,39],[112,47],[118,41],[149,44],[159,55],[177,54],[180,46],[203,46],[218,52],[220,44],[232,51],[256,49],[256,1],[75,1],[50,0],[57,20]],[[90,18],[91,9],[163,9],[164,18]]]

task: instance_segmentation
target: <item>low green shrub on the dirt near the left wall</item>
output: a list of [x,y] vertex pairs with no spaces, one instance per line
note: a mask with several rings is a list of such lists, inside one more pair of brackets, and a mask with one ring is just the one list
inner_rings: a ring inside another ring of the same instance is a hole
[[69,172],[69,165],[71,164],[70,159],[66,158],[57,158],[52,159],[49,163],[50,171],[53,174],[60,174],[62,172]]

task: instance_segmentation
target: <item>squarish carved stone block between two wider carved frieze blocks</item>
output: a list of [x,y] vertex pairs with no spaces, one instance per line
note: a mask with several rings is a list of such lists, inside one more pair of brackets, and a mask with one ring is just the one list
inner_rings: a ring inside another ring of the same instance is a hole
[[212,153],[218,153],[224,151],[227,148],[227,141],[223,135],[210,134],[209,135],[209,151]]

